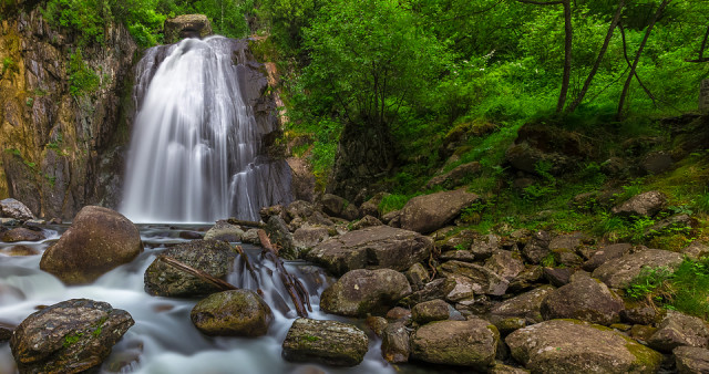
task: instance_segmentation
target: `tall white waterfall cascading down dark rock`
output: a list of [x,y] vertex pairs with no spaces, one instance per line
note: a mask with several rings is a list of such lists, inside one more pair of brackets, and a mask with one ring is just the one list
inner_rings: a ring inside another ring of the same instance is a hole
[[266,85],[246,49],[212,37],[146,51],[121,207],[131,220],[258,220],[259,208],[290,201],[288,165],[264,154],[277,123],[254,114]]

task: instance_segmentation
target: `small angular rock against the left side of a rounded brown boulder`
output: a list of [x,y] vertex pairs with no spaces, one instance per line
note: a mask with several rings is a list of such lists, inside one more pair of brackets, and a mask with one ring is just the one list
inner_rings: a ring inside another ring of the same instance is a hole
[[542,316],[542,302],[555,290],[552,285],[542,285],[532,291],[516,295],[494,307],[490,314],[494,320],[508,318],[522,318],[527,323],[534,324],[544,321]]

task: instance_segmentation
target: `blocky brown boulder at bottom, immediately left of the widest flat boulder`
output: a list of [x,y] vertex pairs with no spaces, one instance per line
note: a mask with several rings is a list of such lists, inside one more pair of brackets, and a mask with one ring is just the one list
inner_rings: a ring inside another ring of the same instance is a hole
[[495,364],[500,333],[490,322],[431,322],[411,337],[411,356],[433,364],[470,366],[486,371]]

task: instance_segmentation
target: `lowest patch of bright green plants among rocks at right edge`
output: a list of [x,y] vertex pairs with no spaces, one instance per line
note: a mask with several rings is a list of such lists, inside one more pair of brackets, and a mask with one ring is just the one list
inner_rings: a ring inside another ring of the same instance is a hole
[[685,259],[669,268],[644,268],[625,289],[631,300],[644,300],[658,308],[709,318],[709,258]]

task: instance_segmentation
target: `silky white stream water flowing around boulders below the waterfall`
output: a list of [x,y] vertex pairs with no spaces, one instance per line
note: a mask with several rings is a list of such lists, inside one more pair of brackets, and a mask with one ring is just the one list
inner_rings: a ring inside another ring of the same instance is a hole
[[[63,230],[63,228],[62,228]],[[58,238],[58,232],[47,232]],[[364,362],[350,368],[323,367],[312,364],[292,364],[281,359],[281,344],[295,319],[287,293],[269,276],[270,263],[261,263],[250,256],[261,281],[265,300],[271,307],[275,321],[266,336],[208,337],[202,335],[189,320],[196,300],[151,297],[143,290],[143,273],[156,253],[176,239],[178,231],[167,227],[141,227],[146,250],[133,262],[121,266],[101,277],[93,284],[66,287],[53,276],[39,269],[41,256],[8,257],[0,254],[0,323],[17,325],[35,311],[37,305],[51,305],[72,298],[106,301],[113,308],[126,310],[135,320],[123,339],[113,347],[111,356],[101,366],[101,373],[209,373],[209,374],[277,374],[306,373],[319,367],[326,373],[393,373],[381,359],[380,341],[370,336],[370,349]],[[43,251],[49,242],[23,243]],[[2,247],[11,247],[0,243]],[[155,249],[150,249],[155,247]],[[249,250],[255,254],[256,249]],[[250,279],[236,267],[228,277],[237,287],[255,289]],[[338,319],[318,310],[319,298],[328,280],[317,268],[302,262],[287,264],[311,295],[315,319]],[[271,269],[273,270],[273,269]],[[285,298],[284,298],[285,295]],[[285,301],[284,301],[285,300]],[[281,305],[281,307],[279,307]],[[352,321],[350,321],[352,322]],[[0,343],[0,373],[16,373],[9,343]]]

